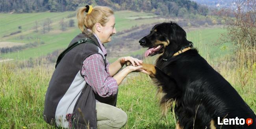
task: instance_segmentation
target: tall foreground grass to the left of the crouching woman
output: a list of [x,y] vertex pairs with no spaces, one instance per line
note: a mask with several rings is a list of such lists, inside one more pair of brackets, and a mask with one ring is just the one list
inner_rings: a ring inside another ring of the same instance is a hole
[[42,67],[21,70],[16,65],[0,65],[0,128],[48,128],[41,116],[44,92],[52,72]]

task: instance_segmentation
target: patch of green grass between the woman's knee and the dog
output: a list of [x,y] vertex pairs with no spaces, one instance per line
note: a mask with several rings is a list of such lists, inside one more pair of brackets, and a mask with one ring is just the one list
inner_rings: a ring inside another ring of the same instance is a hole
[[[139,80],[138,80],[139,78]],[[158,101],[155,97],[156,87],[151,79],[140,74],[130,76],[119,88],[118,107],[128,115],[127,129],[173,129],[173,116],[168,114],[162,118]]]

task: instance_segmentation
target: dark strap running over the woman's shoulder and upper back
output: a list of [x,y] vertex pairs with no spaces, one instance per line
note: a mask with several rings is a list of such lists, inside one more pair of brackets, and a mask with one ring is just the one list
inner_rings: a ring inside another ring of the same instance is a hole
[[[57,59],[57,61],[56,61],[55,68],[57,67],[57,65],[59,64],[59,62],[61,61],[61,59],[63,58],[63,56],[64,56],[67,52],[69,52],[72,48],[74,48],[74,47],[76,47],[77,45],[80,45],[80,44],[82,44],[82,43],[92,43],[92,44],[96,45],[95,42],[94,42],[93,40],[89,39],[89,38],[80,39],[79,41],[77,41],[77,42],[73,43],[72,45],[70,45],[70,46],[69,46],[67,49],[65,49],[63,52],[61,52],[61,54],[59,55],[59,57],[58,57],[58,59]],[[96,46],[97,46],[97,45],[96,45]]]

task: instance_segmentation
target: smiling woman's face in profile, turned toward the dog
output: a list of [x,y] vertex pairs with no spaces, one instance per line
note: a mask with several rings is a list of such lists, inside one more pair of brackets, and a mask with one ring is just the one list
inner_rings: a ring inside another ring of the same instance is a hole
[[116,33],[115,30],[115,16],[111,15],[109,16],[109,21],[106,23],[105,26],[100,25],[99,28],[97,28],[100,32],[98,32],[98,37],[101,41],[101,43],[108,43],[111,41],[111,36]]

